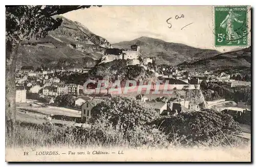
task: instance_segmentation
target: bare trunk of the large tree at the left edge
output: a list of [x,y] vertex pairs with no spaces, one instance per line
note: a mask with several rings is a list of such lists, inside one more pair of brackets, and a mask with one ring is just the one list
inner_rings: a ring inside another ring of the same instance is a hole
[[6,51],[6,133],[9,136],[13,135],[15,129],[16,118],[16,85],[15,85],[15,68],[17,60],[17,50],[19,44],[11,47]]

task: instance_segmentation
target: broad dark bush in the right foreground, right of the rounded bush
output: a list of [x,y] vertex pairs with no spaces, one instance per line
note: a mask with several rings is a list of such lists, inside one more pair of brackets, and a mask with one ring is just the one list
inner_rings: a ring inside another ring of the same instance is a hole
[[154,122],[169,140],[179,137],[184,145],[207,143],[229,145],[229,139],[242,132],[232,116],[214,110],[183,112],[178,116],[163,117]]

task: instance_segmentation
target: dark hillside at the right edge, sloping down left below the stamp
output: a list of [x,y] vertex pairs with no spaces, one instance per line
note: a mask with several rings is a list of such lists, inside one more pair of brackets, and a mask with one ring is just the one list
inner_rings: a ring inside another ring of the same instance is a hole
[[251,46],[246,49],[226,52],[215,57],[187,61],[178,66],[188,70],[223,70],[229,68],[248,68],[251,67]]

